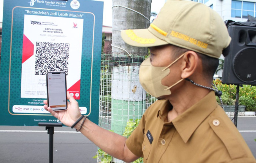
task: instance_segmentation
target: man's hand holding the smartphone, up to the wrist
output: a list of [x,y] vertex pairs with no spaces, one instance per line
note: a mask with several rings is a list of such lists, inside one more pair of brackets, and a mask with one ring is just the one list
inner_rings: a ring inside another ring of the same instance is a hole
[[69,92],[67,92],[67,99],[69,100],[67,110],[53,111],[47,106],[47,100],[44,100],[44,109],[50,112],[54,117],[58,118],[61,123],[70,127],[82,116],[82,114],[80,113],[78,102],[69,94]]

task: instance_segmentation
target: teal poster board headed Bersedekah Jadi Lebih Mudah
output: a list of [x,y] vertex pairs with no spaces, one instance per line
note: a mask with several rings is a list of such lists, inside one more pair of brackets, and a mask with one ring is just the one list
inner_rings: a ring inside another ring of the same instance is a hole
[[49,71],[66,72],[67,90],[81,114],[98,124],[99,110],[91,108],[99,105],[103,4],[4,0],[0,90],[6,96],[0,125],[57,123],[42,107]]

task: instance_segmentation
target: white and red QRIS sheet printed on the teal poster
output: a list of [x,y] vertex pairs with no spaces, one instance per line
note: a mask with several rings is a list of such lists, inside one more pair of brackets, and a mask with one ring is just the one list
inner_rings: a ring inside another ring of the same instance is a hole
[[47,98],[46,73],[64,71],[80,99],[83,19],[24,15],[21,98]]

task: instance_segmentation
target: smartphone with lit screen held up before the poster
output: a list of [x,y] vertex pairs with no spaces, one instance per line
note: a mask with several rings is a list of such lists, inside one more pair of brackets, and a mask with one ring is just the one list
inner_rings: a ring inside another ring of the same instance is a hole
[[48,72],[46,74],[48,107],[52,110],[67,109],[67,84],[65,72]]

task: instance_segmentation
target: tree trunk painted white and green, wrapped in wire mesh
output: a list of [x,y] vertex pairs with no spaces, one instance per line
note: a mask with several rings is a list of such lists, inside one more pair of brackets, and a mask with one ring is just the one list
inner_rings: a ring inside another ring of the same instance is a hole
[[[112,53],[102,55],[99,125],[127,137],[127,131],[130,133],[131,128],[136,128],[131,124],[138,124],[145,109],[155,99],[151,99],[140,85],[138,75],[148,49],[125,44],[121,30],[148,28],[151,0],[112,0],[112,4]],[[122,162],[114,158],[110,160],[102,152],[98,152],[97,160]],[[135,162],[142,162],[142,159]]]

